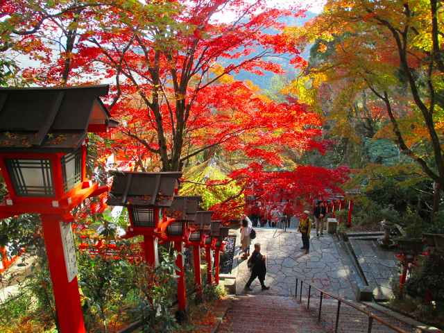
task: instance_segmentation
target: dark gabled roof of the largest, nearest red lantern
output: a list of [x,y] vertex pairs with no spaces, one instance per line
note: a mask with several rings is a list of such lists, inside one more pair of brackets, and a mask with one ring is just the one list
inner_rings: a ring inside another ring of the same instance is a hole
[[0,152],[74,151],[87,132],[116,126],[99,96],[109,85],[0,87]]

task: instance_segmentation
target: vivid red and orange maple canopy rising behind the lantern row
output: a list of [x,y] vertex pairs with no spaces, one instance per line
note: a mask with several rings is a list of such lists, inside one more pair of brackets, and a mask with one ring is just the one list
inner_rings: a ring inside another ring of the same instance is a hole
[[[302,10],[262,0],[3,2],[2,51],[38,64],[18,69],[10,62],[11,75],[19,71],[28,85],[112,83],[108,106],[120,125],[93,139],[95,167],[103,169],[111,155],[121,169],[185,175],[207,161],[230,164],[219,185],[235,184],[236,191],[208,206],[237,200],[239,207],[248,178],[307,202],[326,189],[340,191],[346,169],[298,163],[330,144],[318,114],[237,79],[285,75],[281,56],[293,70],[302,67],[281,20]],[[227,12],[229,22],[221,19]],[[202,181],[208,191],[218,185],[211,175]]]

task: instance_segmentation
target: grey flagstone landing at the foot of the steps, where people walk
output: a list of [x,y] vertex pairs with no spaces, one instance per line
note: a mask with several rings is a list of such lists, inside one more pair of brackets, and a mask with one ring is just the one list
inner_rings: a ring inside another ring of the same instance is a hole
[[[311,232],[310,253],[300,250],[302,240],[296,230],[283,232],[276,229],[255,228],[257,238],[253,243],[262,244],[262,253],[267,257],[266,284],[269,291],[261,291],[259,281],[252,284],[252,294],[291,296],[295,292],[296,277],[313,282],[316,287],[330,291],[348,299],[355,299],[350,284],[352,272],[344,263],[337,240],[330,234],[316,238]],[[240,237],[238,237],[240,238]],[[252,246],[253,250],[253,246]],[[246,260],[237,256],[238,264],[233,274],[237,274],[237,294],[244,294],[244,286],[249,277]]]

